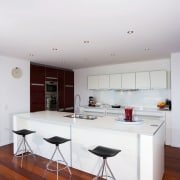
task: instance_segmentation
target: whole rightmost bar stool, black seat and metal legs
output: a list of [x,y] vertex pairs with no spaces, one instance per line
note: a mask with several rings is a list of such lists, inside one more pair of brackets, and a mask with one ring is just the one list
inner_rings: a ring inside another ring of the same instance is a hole
[[[100,179],[111,178],[111,179],[116,180],[116,178],[114,177],[114,175],[113,175],[113,173],[112,173],[112,171],[111,171],[111,169],[107,163],[107,158],[117,155],[119,152],[121,152],[121,150],[111,149],[111,148],[104,147],[104,146],[97,146],[92,150],[89,149],[88,151],[103,158],[103,163],[101,165],[101,168],[99,169],[97,176],[95,178],[93,178],[93,180],[98,180],[99,178]],[[110,176],[107,175],[107,169],[110,172]],[[105,175],[104,175],[104,171],[106,173]]]

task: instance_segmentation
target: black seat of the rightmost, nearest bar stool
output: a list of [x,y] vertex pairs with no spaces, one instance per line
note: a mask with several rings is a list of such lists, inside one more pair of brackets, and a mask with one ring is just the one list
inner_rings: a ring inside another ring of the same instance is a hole
[[108,157],[113,157],[116,154],[118,154],[119,152],[121,152],[121,150],[111,149],[111,148],[107,148],[104,146],[97,146],[93,150],[89,150],[89,151],[97,156],[103,157],[103,159],[106,159]]

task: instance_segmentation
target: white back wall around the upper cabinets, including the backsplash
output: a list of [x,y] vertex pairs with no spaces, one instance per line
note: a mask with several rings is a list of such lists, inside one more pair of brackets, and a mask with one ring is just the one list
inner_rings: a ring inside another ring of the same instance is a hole
[[88,105],[89,96],[94,96],[97,101],[105,104],[156,107],[158,101],[165,100],[166,98],[170,99],[170,89],[135,92],[120,92],[112,90],[94,91],[87,89],[87,76],[162,69],[167,70],[168,77],[170,77],[170,59],[75,69],[75,94],[80,94],[81,105]]

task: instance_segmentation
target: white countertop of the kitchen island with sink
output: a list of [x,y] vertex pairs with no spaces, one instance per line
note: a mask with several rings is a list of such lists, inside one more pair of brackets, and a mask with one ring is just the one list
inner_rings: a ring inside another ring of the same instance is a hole
[[[115,120],[115,117],[104,116],[98,117],[95,120],[85,120],[79,118],[64,117],[65,115],[72,114],[68,112],[56,112],[56,111],[40,111],[34,113],[16,114],[14,117],[25,120],[44,121],[46,123],[64,124],[72,127],[83,128],[98,128],[104,130],[115,130],[127,133],[136,133],[140,135],[153,136],[159,129],[159,127],[165,123],[164,120],[144,120],[142,124],[127,125]],[[143,119],[142,119],[143,120]]]

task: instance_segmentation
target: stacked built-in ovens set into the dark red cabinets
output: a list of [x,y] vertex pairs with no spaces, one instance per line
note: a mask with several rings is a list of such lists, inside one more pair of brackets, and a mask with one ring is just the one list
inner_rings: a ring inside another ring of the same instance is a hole
[[45,81],[45,109],[58,110],[58,82]]

